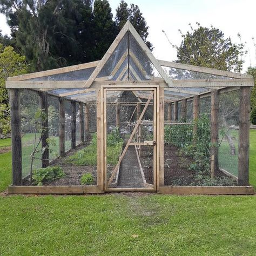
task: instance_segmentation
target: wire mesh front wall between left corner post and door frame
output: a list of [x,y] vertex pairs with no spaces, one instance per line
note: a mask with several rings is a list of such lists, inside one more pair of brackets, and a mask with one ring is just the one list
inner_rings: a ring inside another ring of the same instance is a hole
[[[75,122],[72,122],[70,100],[33,90],[20,90],[20,100],[22,184],[96,185],[96,100],[91,105],[76,103]],[[72,123],[77,146],[73,150]],[[65,156],[59,157],[62,150]]]

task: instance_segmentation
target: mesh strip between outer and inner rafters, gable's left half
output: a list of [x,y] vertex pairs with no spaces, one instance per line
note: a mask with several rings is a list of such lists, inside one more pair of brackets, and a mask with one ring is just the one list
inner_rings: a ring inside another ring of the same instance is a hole
[[100,70],[100,72],[98,73],[97,78],[108,77],[109,80],[113,80],[113,77],[110,77],[111,72],[116,67],[120,58],[122,58],[122,56],[125,54],[127,49],[128,49],[128,33],[126,32],[124,37],[121,39],[121,41],[117,45],[116,49],[114,49],[114,51],[112,52],[107,62],[104,64],[102,70]]

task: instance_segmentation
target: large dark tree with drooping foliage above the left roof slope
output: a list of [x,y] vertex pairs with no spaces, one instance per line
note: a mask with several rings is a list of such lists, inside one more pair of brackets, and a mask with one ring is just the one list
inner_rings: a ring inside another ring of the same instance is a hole
[[92,60],[91,0],[0,0],[32,71]]

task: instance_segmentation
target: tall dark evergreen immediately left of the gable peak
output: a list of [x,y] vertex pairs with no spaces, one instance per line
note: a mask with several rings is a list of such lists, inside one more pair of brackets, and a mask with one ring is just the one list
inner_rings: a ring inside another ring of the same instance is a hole
[[117,36],[117,26],[107,0],[95,0],[93,8],[95,59],[101,59]]

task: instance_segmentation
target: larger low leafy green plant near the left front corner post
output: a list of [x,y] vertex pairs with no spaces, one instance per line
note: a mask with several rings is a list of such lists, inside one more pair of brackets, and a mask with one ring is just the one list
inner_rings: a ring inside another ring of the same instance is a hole
[[62,167],[48,166],[33,171],[32,179],[37,186],[42,186],[46,181],[52,181],[65,177]]

